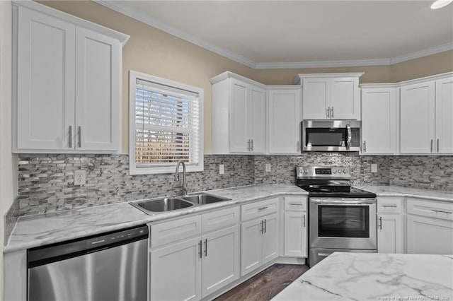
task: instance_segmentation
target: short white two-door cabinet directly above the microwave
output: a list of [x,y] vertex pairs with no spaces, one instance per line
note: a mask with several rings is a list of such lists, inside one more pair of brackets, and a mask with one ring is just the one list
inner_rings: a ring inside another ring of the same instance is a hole
[[303,119],[360,119],[359,78],[363,73],[299,74]]

